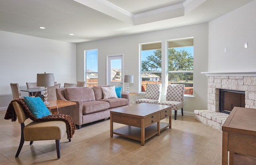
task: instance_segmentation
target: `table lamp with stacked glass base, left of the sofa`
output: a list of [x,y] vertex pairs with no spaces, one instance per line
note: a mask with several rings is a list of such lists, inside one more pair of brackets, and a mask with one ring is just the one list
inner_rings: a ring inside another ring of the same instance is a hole
[[47,87],[54,86],[54,75],[53,74],[37,74],[36,86],[44,87],[44,104],[49,105],[50,103],[47,101],[48,92]]

